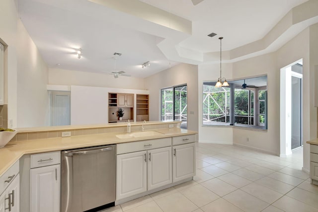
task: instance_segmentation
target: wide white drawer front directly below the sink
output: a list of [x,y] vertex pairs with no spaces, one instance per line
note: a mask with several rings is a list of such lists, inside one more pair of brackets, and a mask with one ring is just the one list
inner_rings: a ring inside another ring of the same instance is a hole
[[137,152],[147,149],[155,149],[160,147],[171,146],[171,138],[160,138],[145,141],[136,141],[129,143],[117,144],[117,155],[128,152]]

